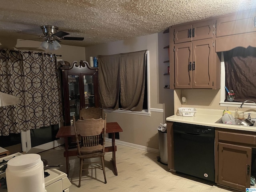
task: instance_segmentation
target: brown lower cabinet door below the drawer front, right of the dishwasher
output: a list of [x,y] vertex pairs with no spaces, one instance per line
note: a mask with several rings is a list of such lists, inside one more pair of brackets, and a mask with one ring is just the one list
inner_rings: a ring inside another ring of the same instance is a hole
[[250,188],[252,148],[218,143],[217,184],[245,191]]

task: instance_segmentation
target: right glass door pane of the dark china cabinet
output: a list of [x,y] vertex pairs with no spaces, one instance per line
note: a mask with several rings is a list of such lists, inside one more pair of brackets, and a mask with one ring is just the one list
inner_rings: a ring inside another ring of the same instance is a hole
[[86,107],[94,107],[93,75],[84,75],[84,103]]

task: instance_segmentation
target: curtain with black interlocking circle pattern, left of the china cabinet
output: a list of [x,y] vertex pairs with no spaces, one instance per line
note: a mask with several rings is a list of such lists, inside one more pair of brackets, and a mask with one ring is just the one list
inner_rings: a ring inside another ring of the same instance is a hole
[[1,92],[21,103],[0,108],[0,135],[63,122],[56,59],[52,54],[0,52]]

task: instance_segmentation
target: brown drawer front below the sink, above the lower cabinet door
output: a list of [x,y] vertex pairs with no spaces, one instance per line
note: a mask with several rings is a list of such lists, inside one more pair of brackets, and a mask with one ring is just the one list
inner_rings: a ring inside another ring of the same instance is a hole
[[219,131],[218,140],[255,145],[256,135]]

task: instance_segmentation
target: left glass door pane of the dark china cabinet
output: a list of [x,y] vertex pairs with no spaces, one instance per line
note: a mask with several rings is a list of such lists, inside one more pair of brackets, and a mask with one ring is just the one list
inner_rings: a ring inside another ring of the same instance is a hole
[[78,75],[68,75],[68,94],[70,106],[70,120],[72,122],[73,115],[76,117],[76,120],[79,119],[80,92]]

